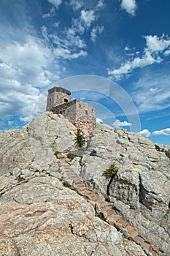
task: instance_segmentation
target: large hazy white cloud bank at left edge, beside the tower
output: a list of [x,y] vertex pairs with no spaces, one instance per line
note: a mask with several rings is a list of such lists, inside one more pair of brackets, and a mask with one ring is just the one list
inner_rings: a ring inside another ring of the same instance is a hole
[[[0,116],[20,116],[26,121],[39,97],[39,89],[50,83],[47,71],[53,55],[42,40],[26,37],[25,42],[12,42],[0,48]],[[57,73],[57,72],[56,72]]]

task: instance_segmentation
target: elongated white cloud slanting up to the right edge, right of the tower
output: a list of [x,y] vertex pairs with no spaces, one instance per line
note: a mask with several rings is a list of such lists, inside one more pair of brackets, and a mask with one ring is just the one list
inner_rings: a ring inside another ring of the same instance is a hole
[[[167,56],[169,52],[170,39],[164,34],[162,37],[158,36],[145,36],[146,47],[143,50],[142,56],[139,57],[139,53],[136,53],[134,59],[125,61],[118,69],[109,70],[108,74],[112,75],[116,80],[123,78],[123,75],[130,74],[134,69],[150,66],[152,64],[159,64],[163,61],[161,53],[164,51],[164,55]],[[133,54],[134,55],[134,54]]]

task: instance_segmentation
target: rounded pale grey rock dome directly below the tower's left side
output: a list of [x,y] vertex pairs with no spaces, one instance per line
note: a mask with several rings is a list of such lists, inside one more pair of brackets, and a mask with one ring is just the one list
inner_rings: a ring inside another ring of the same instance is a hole
[[22,170],[26,176],[26,170],[50,168],[56,159],[55,151],[64,151],[72,145],[72,124],[61,115],[42,113],[23,129],[0,133],[0,174]]

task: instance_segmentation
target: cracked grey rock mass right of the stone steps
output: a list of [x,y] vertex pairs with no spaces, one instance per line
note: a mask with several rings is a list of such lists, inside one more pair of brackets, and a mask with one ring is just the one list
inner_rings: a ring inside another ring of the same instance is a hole
[[81,176],[90,189],[107,196],[104,170],[115,162],[119,171],[109,187],[114,208],[135,225],[142,236],[170,252],[170,146],[155,146],[147,138],[98,125],[82,158]]

